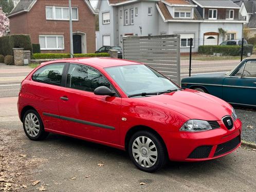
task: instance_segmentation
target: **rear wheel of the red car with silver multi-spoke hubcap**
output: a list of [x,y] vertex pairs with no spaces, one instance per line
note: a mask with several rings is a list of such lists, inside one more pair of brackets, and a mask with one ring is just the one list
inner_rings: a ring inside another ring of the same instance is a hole
[[[33,119],[33,121],[32,121]],[[23,116],[23,129],[26,136],[33,141],[40,141],[45,139],[49,132],[44,130],[44,124],[40,118],[40,115],[35,110],[28,110]]]

